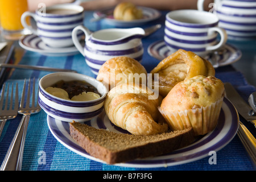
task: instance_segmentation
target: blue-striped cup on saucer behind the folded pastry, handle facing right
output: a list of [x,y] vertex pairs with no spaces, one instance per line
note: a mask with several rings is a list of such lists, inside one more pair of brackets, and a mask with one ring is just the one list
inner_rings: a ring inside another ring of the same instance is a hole
[[184,49],[206,56],[226,43],[226,31],[217,27],[217,16],[206,11],[171,11],[166,15],[165,25],[164,41],[173,52]]

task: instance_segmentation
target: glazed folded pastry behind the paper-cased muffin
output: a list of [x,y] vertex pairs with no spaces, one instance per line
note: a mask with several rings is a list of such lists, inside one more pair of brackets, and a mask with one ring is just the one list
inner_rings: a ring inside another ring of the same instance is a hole
[[[159,86],[159,93],[165,97],[178,82],[197,75],[214,76],[215,70],[208,60],[191,51],[179,49],[172,53],[151,71],[153,84]],[[154,74],[158,75],[158,79]]]

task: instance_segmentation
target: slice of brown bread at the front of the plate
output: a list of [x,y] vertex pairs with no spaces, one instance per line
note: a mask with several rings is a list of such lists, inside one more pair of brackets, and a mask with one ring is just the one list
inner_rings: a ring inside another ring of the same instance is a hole
[[70,123],[70,134],[91,156],[109,164],[167,154],[191,144],[192,129],[147,136],[114,133],[83,123]]

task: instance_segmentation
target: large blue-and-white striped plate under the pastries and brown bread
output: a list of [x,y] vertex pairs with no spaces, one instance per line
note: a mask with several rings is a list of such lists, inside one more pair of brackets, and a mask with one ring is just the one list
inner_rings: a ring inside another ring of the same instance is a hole
[[[47,123],[53,136],[69,150],[84,156],[85,158],[105,163],[100,159],[90,156],[82,147],[79,146],[79,144],[77,144],[77,142],[69,134],[68,122],[59,121],[48,115]],[[98,117],[84,123],[97,129],[108,129],[109,131],[116,133],[127,133],[127,131],[113,125],[104,111],[102,111]],[[211,154],[210,152],[217,152],[221,148],[225,147],[226,144],[228,144],[236,135],[237,130],[237,110],[234,108],[231,102],[229,102],[229,100],[224,98],[220,118],[218,119],[216,128],[212,132],[197,139],[196,142],[187,147],[172,151],[169,154],[155,156],[153,158],[137,159],[127,163],[119,163],[115,164],[115,166],[155,168],[176,166],[179,164],[193,162],[209,156],[209,154]]]

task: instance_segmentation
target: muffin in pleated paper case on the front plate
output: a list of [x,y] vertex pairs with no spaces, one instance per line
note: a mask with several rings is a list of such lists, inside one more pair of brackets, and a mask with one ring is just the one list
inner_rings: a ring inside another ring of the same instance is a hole
[[172,130],[192,127],[195,136],[204,135],[216,127],[224,91],[224,84],[214,76],[188,78],[171,89],[159,111]]

